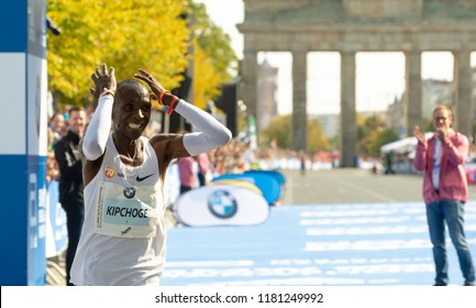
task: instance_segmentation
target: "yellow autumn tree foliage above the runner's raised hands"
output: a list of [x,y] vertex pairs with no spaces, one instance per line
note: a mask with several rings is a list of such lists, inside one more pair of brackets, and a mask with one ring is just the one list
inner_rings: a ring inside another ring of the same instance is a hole
[[[118,80],[143,68],[165,88],[180,85],[193,61],[193,102],[204,108],[236,73],[231,38],[191,0],[49,0],[62,29],[47,36],[49,89],[60,105],[85,105],[97,65],[114,66]],[[191,35],[193,33],[193,35]],[[192,40],[190,40],[192,38]],[[190,44],[193,53],[188,54]]]

